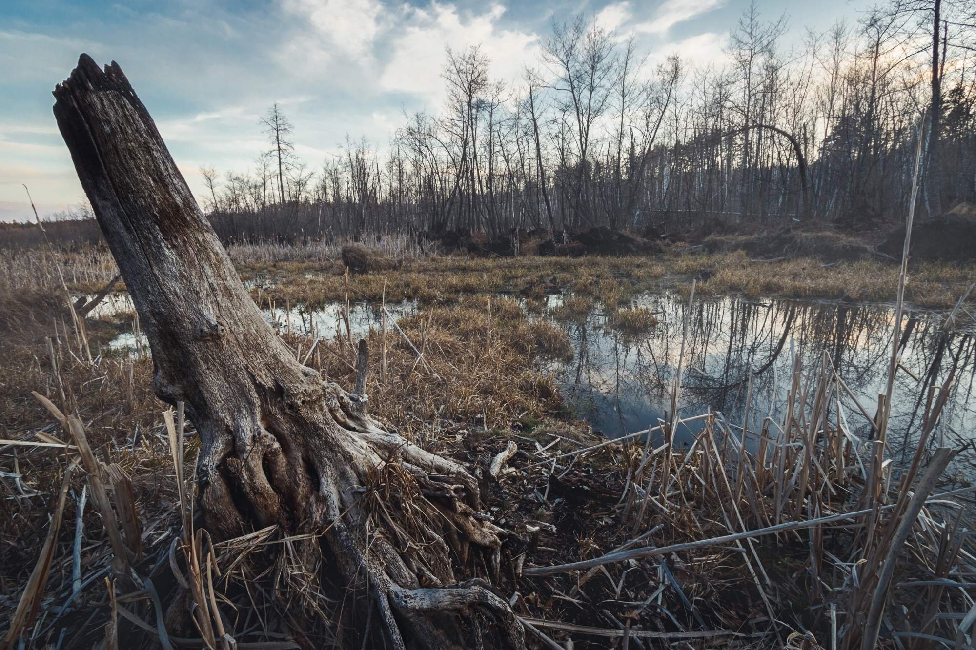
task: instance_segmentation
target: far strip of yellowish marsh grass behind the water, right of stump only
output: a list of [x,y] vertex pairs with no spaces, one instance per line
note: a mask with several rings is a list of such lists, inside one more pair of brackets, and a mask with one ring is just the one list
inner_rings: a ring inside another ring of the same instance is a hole
[[[339,261],[242,262],[245,279],[272,280],[265,296],[315,307],[345,299]],[[913,266],[906,300],[921,307],[950,308],[965,292],[974,265],[939,262]],[[400,268],[353,276],[353,298],[417,300],[447,304],[472,293],[508,293],[529,301],[570,291],[604,308],[628,305],[634,296],[663,291],[687,294],[696,280],[700,296],[739,294],[752,298],[824,299],[891,303],[898,288],[897,264],[876,260],[825,263],[816,257],[753,260],[744,251],[682,253],[653,257],[469,258],[405,260]]]

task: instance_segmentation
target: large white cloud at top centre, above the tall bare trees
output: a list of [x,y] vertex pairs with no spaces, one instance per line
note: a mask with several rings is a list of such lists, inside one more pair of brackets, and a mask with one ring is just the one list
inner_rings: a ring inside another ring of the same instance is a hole
[[502,5],[492,5],[483,14],[458,13],[451,4],[431,4],[429,11],[409,9],[407,25],[392,39],[392,58],[380,77],[386,91],[424,96],[429,102],[444,97],[444,51],[480,45],[491,60],[495,79],[510,81],[521,75],[522,67],[533,61],[539,38],[534,33],[503,29],[498,25],[505,13]]

